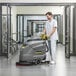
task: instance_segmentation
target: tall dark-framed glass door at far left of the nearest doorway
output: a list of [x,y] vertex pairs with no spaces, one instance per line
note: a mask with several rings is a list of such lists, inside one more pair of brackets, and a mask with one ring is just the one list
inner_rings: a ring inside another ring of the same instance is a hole
[[8,4],[2,6],[2,55],[11,56],[11,7]]

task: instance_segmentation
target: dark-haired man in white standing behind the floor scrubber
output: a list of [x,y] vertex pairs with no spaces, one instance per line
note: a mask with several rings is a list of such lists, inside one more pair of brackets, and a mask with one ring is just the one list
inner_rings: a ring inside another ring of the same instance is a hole
[[57,33],[57,21],[53,19],[53,14],[51,12],[46,13],[48,21],[46,22],[43,33],[46,33],[48,40],[48,47],[50,49],[51,64],[56,63],[56,41],[58,40]]

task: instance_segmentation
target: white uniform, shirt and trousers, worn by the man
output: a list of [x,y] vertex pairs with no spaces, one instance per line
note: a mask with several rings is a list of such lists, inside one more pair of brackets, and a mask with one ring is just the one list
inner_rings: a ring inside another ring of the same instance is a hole
[[[51,21],[46,22],[45,29],[46,29],[47,35],[52,31],[53,27],[57,27],[57,21],[55,19],[52,19]],[[56,31],[50,37],[49,42],[47,41],[50,49],[51,60],[53,61],[56,60],[56,41],[57,40],[58,40],[58,33],[56,29]],[[47,55],[46,60],[48,60],[48,58],[49,57]]]

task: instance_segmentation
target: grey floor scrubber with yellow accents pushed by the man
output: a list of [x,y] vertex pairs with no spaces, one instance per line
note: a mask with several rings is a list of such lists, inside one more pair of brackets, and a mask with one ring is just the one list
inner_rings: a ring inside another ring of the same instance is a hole
[[48,50],[46,39],[47,36],[42,34],[40,39],[33,38],[28,40],[27,44],[22,45],[20,48],[19,62],[16,65],[43,63],[46,60],[46,52]]

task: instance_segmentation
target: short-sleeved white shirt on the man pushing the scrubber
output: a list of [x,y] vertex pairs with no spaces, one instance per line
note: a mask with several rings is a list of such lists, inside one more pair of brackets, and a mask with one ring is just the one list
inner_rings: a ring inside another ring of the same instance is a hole
[[[46,29],[46,34],[48,35],[53,27],[57,27],[57,21],[55,19],[52,19],[51,21],[47,21],[46,25],[45,25],[45,29]],[[57,33],[57,29],[56,31],[52,34],[52,36],[50,37],[51,40],[58,40],[58,33]]]

